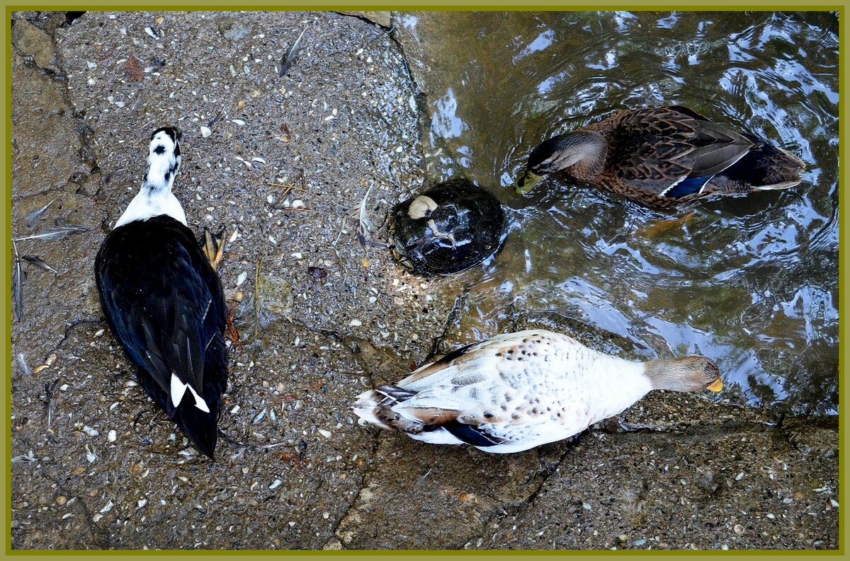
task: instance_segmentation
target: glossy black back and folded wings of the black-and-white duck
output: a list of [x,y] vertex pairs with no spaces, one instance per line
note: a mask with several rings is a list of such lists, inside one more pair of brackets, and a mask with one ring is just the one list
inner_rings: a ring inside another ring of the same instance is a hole
[[[171,374],[201,392],[204,353],[224,331],[224,291],[190,229],[168,216],[129,222],[95,261],[101,302],[127,355],[167,396]],[[170,414],[170,400],[160,404]]]

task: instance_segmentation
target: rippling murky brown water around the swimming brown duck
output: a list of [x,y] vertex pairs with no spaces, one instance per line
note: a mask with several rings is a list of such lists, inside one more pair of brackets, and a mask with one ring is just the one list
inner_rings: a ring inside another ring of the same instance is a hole
[[[827,12],[417,13],[433,182],[466,176],[513,210],[470,283],[459,339],[555,313],[646,356],[715,359],[723,396],[838,408],[838,24]],[[797,154],[785,192],[647,210],[563,177],[512,184],[537,143],[614,109],[682,104]]]

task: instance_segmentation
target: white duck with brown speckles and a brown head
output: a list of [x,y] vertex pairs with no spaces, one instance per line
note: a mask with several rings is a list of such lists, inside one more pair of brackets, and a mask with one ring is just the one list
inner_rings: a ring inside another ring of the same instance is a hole
[[631,362],[533,330],[452,351],[396,385],[360,394],[353,409],[416,440],[506,453],[580,433],[650,390],[722,389],[705,356]]

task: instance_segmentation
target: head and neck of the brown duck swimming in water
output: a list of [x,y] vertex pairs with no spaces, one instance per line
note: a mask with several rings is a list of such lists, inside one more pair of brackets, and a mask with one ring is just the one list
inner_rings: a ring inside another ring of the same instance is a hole
[[519,194],[528,193],[542,176],[565,170],[580,160],[599,158],[604,148],[604,137],[598,132],[576,131],[549,138],[531,150],[514,189]]

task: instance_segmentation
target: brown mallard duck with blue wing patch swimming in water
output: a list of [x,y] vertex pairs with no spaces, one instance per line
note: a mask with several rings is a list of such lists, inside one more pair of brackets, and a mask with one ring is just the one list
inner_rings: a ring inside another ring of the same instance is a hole
[[516,182],[527,193],[540,177],[564,171],[653,208],[711,195],[785,189],[802,181],[796,155],[711,122],[680,105],[615,112],[541,143]]

